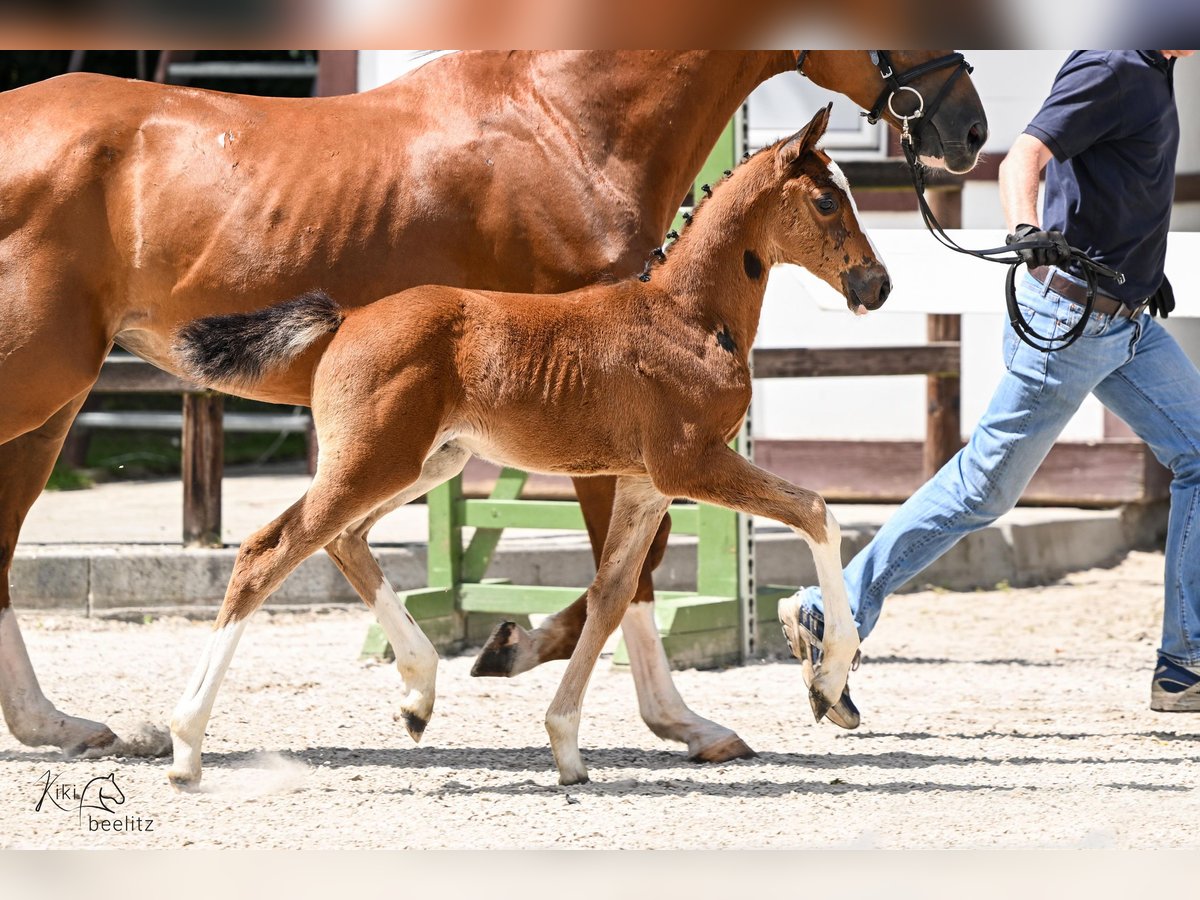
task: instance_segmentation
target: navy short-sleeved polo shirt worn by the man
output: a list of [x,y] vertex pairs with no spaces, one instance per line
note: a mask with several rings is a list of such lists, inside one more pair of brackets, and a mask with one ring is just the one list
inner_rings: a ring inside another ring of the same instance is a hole
[[1163,280],[1180,119],[1175,60],[1157,50],[1076,50],[1025,130],[1054,154],[1042,227],[1123,272],[1100,289],[1129,305]]

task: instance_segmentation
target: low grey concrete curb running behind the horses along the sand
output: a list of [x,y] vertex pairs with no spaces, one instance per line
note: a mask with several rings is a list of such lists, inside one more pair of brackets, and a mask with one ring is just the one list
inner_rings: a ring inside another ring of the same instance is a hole
[[[1104,512],[1057,510],[1040,521],[1001,523],[967,536],[908,586],[974,590],[997,584],[1049,583],[1063,575],[1111,565],[1135,547],[1160,546],[1165,504]],[[842,530],[848,560],[877,530]],[[815,582],[808,548],[786,529],[756,532],[756,576],[762,584]],[[236,548],[184,550],[169,545],[58,545],[18,550],[11,572],[14,605],[90,616],[215,608],[224,596]],[[425,544],[380,545],[376,557],[398,590],[425,587]],[[655,584],[695,588],[695,539],[672,540]],[[490,576],[518,584],[587,584],[594,574],[586,538],[502,541]],[[270,599],[270,607],[352,604],[358,596],[324,554],[305,560]]]

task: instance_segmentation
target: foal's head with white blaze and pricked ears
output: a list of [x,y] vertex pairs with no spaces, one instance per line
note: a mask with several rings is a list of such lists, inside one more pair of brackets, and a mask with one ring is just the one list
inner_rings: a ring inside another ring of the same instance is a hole
[[858,222],[845,175],[816,146],[830,108],[746,166],[774,180],[768,191],[778,199],[760,206],[764,236],[774,244],[773,262],[803,265],[840,290],[851,311],[862,316],[883,305],[892,280]]

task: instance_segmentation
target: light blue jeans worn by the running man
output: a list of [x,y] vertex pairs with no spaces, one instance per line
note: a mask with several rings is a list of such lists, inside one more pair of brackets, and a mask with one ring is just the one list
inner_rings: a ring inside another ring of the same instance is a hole
[[[1061,335],[1082,307],[1027,274],[1018,302],[1033,329]],[[1200,665],[1200,372],[1147,314],[1093,314],[1064,350],[1040,353],[1004,328],[1004,366],[971,440],[896,510],[845,570],[858,634],[883,599],[965,535],[1016,505],[1050,446],[1088,395],[1120,415],[1171,469],[1162,653]],[[821,610],[821,592],[802,602]]]

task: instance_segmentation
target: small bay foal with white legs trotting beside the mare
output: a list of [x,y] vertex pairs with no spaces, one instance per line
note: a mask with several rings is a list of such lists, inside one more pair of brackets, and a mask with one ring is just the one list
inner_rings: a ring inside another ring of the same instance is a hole
[[672,497],[767,516],[809,542],[830,598],[810,694],[817,719],[824,715],[858,647],[838,523],[821,497],[727,444],[750,402],[748,355],[772,265],[806,266],[854,312],[877,307],[890,287],[845,179],[815,146],[828,120],[826,108],[740,166],[644,281],[559,295],[420,287],[346,311],[313,293],[181,329],[178,365],[202,383],[234,392],[263,382],[311,385],[322,452],[305,496],[241,546],[172,721],[176,786],[200,778],[204,730],[247,617],[320,547],[376,611],[404,678],[404,722],[420,738],[437,653],[365,539],[380,515],[455,475],[473,452],[532,472],[617,476],[587,619],[546,716],[563,784],[587,779],[577,745],[583,694]]

